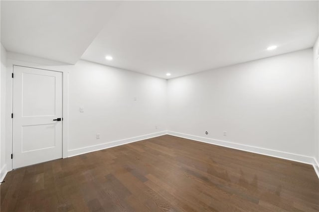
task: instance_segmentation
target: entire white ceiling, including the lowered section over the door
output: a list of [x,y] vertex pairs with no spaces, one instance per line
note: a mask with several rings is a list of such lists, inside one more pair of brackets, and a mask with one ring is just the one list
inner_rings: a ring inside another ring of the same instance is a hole
[[317,1],[36,2],[1,1],[8,51],[75,63],[86,49],[82,59],[160,78],[310,48],[318,36]]

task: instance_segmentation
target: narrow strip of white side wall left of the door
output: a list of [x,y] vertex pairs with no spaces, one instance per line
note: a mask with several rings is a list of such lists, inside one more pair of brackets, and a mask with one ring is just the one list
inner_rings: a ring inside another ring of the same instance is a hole
[[5,84],[6,84],[6,51],[0,47],[0,181],[6,173],[5,158]]

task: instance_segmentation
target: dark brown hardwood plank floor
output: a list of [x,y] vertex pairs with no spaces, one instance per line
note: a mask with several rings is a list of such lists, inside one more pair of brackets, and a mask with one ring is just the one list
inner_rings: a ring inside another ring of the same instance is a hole
[[319,211],[311,165],[164,135],[11,171],[1,212]]

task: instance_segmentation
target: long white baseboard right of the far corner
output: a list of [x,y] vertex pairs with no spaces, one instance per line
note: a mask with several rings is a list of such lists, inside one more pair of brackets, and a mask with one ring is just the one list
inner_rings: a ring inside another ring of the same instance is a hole
[[233,142],[228,142],[228,141],[205,138],[205,137],[200,137],[200,136],[196,136],[196,135],[189,135],[189,134],[184,134],[184,133],[179,133],[179,132],[167,131],[167,134],[177,136],[177,137],[187,138],[187,139],[191,139],[191,140],[195,140],[195,141],[200,141],[200,142],[204,142],[204,143],[214,144],[214,145],[218,145],[218,146],[224,146],[224,147],[228,147],[228,148],[232,148],[232,149],[239,149],[239,150],[243,150],[243,151],[247,151],[247,152],[253,152],[253,153],[257,153],[257,154],[262,154],[262,155],[297,161],[297,162],[301,162],[301,163],[307,163],[307,164],[311,164],[311,165],[314,165],[314,163],[315,163],[313,157],[309,157],[309,156],[305,156],[305,155],[299,155],[299,154],[294,154],[294,153],[289,153],[289,152],[282,152],[282,151],[277,151],[277,150],[272,150],[272,149],[265,149],[265,148],[255,147],[255,146],[249,146],[249,145],[244,145],[244,144],[239,144],[239,143],[233,143]]

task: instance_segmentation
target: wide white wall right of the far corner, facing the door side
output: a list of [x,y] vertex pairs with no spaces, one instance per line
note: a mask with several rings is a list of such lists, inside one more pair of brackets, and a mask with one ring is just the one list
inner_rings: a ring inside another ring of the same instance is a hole
[[303,162],[315,156],[312,49],[184,76],[167,85],[169,131],[264,154],[307,156]]

